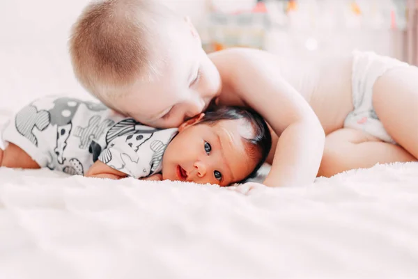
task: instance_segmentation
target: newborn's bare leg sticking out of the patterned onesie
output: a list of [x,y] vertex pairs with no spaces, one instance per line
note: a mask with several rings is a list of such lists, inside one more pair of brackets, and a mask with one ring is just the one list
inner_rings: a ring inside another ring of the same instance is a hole
[[8,143],[5,150],[0,150],[0,166],[8,168],[40,168],[36,161],[13,143]]

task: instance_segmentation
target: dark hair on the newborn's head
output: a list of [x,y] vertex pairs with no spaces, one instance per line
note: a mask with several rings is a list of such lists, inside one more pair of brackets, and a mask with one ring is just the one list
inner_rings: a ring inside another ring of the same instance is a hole
[[[241,106],[210,106],[198,123],[215,124],[221,120],[245,120],[252,129],[252,137],[244,138],[250,148],[247,154],[254,161],[258,161],[256,168],[244,180],[255,177],[257,171],[264,164],[272,147],[272,135],[263,117],[253,109]],[[243,181],[244,181],[243,180]]]

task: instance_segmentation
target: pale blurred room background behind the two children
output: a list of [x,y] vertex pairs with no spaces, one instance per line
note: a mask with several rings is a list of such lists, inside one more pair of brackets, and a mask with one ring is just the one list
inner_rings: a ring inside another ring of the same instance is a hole
[[[208,52],[254,47],[309,61],[357,48],[418,65],[418,0],[161,1],[192,19]],[[40,95],[86,96],[67,41],[87,3],[0,1],[0,112]]]

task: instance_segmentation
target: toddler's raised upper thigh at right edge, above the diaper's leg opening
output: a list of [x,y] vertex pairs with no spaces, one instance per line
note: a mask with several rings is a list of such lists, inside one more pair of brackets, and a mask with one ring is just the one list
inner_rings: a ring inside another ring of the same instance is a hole
[[387,133],[418,158],[418,68],[382,75],[373,86],[373,106]]

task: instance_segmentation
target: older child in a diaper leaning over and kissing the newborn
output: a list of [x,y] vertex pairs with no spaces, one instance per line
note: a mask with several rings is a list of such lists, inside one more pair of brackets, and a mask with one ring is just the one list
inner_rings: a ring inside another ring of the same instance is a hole
[[212,99],[258,111],[274,131],[267,186],[418,158],[418,69],[393,58],[207,55],[189,19],[155,0],[95,1],[72,29],[70,55],[88,92],[152,127],[178,127]]

